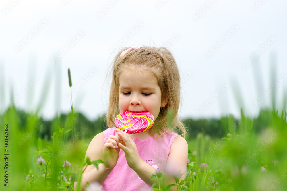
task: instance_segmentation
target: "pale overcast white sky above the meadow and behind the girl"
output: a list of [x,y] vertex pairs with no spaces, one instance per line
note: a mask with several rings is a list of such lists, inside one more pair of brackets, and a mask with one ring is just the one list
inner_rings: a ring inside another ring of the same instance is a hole
[[283,0],[1,0],[1,112],[12,89],[16,107],[26,111],[42,102],[42,115],[70,112],[70,68],[73,88],[80,84],[75,110],[96,119],[107,108],[111,50],[135,45],[165,46],[174,54],[182,79],[181,118],[239,117],[236,96],[248,115],[270,107],[273,95],[282,109],[286,8]]

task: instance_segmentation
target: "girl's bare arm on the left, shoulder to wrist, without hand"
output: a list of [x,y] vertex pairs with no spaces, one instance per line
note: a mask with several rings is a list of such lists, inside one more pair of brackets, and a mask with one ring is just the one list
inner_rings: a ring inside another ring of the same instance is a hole
[[[99,133],[97,134],[92,141],[90,142],[86,155],[86,157],[90,157],[91,161],[98,160],[98,159],[103,159],[103,147],[104,147],[104,133]],[[100,163],[99,165],[99,170],[96,169],[94,165],[88,165],[87,168],[85,169],[86,166],[83,167],[85,171],[83,172],[82,175],[82,184],[81,184],[81,190],[83,190],[83,187],[87,186],[86,182],[99,182],[102,184],[107,178],[110,172],[113,169],[109,169],[104,165],[103,163]],[[76,190],[76,185],[77,182],[74,183],[74,190]]]

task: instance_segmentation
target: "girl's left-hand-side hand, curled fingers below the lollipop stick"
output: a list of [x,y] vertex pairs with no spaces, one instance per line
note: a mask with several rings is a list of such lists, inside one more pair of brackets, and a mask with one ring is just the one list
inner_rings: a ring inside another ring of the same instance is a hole
[[113,169],[119,159],[120,147],[118,144],[123,141],[122,138],[110,135],[103,148],[103,161],[106,162],[106,168]]

